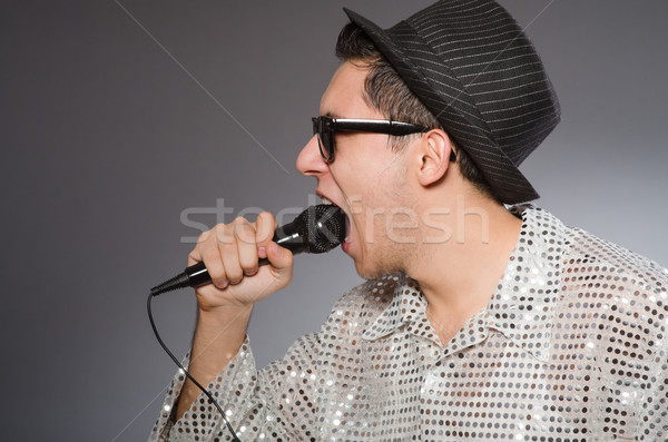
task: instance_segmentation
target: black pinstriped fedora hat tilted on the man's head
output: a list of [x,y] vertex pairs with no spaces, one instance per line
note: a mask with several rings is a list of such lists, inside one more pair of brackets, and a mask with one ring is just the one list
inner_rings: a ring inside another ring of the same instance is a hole
[[559,101],[505,9],[491,0],[442,0],[386,30],[344,10],[501,202],[539,197],[518,166],[559,122]]

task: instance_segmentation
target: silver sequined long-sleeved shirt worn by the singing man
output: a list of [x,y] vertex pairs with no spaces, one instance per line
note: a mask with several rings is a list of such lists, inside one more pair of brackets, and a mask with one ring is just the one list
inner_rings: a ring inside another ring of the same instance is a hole
[[[531,205],[487,308],[442,344],[402,274],[335,304],[255,367],[246,341],[209,385],[242,441],[668,440],[668,271]],[[230,440],[202,395],[151,441]]]

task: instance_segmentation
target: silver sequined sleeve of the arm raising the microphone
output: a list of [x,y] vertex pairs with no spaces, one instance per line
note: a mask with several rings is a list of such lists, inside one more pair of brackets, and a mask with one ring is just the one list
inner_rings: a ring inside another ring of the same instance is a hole
[[[392,293],[372,293],[376,284],[369,282],[344,294],[317,333],[299,337],[285,356],[263,370],[256,369],[245,338],[239,352],[207,387],[242,441],[312,441],[325,433],[341,439],[347,429],[342,429],[343,419],[365,420],[369,404],[366,393],[360,393],[365,383],[358,342]],[[219,412],[204,394],[171,423],[184,382],[185,375],[177,373],[149,441],[232,441]],[[360,397],[348,409],[351,395]],[[327,432],[328,428],[333,430]]]

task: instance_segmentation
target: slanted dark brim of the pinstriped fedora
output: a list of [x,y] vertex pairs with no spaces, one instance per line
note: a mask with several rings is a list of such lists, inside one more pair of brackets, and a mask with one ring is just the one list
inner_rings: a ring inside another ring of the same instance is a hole
[[[533,186],[499,148],[491,131],[481,128],[480,119],[472,118],[471,112],[464,115],[456,106],[452,106],[452,101],[435,99],[436,97],[441,98],[441,95],[433,90],[429,76],[422,73],[421,68],[402,50],[391,35],[358,13],[347,8],[343,8],[343,10],[350,20],[373,41],[409,89],[436,116],[459,147],[465,149],[494,195],[502,203],[515,204],[539,198]],[[405,22],[402,23],[405,24]],[[466,94],[463,87],[460,87],[460,92]],[[475,109],[477,111],[478,109]]]

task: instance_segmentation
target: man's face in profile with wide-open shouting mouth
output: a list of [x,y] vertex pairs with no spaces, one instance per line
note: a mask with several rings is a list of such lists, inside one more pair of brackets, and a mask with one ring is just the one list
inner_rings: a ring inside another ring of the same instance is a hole
[[[342,63],[322,97],[320,115],[385,119],[364,100],[366,72],[351,62]],[[342,248],[355,261],[362,277],[402,269],[401,262],[409,251],[405,244],[387,237],[386,220],[401,219],[396,208],[407,207],[411,202],[403,155],[392,151],[390,138],[383,134],[336,132],[334,140],[333,163],[323,160],[317,136],[313,136],[297,158],[297,169],[316,177],[316,194],[348,216]]]

